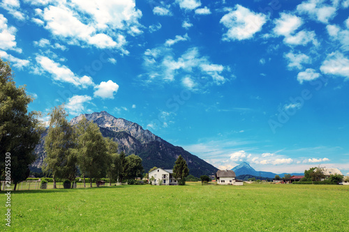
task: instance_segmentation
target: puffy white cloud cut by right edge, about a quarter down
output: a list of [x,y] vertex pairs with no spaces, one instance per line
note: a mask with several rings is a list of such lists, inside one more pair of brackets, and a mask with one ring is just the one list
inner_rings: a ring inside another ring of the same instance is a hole
[[322,73],[335,75],[349,79],[349,59],[341,52],[332,52],[322,62],[320,67]]

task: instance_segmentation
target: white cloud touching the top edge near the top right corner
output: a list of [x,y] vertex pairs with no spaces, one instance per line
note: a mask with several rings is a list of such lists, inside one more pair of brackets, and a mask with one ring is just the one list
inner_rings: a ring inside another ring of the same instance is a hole
[[336,8],[325,5],[323,0],[309,0],[299,4],[297,12],[309,15],[311,19],[327,24],[336,15]]

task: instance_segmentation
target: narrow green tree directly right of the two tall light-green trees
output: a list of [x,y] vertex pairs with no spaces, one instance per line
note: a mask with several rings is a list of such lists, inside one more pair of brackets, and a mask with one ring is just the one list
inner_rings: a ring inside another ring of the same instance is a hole
[[117,154],[117,142],[111,138],[105,138],[105,145],[107,146],[107,178],[109,178],[109,185],[112,186],[112,180],[117,178],[121,171],[121,162]]

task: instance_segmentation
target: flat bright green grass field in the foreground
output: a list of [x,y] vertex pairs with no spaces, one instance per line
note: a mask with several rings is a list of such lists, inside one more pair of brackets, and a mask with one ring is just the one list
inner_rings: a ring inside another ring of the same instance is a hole
[[[0,196],[5,218],[5,196]],[[349,186],[122,185],[13,192],[3,231],[349,231]]]

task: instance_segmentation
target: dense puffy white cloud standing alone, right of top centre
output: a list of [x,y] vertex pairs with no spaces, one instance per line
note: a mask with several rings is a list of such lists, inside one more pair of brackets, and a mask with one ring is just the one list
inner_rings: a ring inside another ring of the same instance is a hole
[[262,30],[262,26],[267,22],[267,16],[253,13],[237,4],[234,10],[221,18],[220,22],[228,28],[223,40],[246,40],[253,38],[255,33]]

